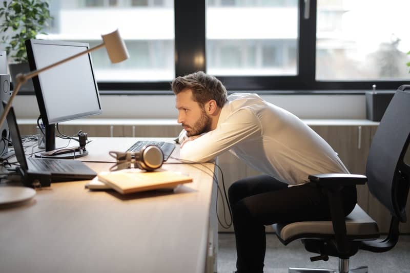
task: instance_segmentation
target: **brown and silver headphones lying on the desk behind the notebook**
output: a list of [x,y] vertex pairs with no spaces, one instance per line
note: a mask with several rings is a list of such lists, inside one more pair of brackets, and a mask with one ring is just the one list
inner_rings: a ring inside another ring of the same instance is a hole
[[110,171],[130,169],[131,167],[152,172],[162,166],[163,153],[155,145],[146,145],[138,152],[109,152],[117,160]]

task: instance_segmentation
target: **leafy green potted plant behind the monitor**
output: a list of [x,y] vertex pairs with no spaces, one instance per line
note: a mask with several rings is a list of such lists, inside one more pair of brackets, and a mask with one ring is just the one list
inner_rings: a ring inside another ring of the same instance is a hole
[[[18,73],[30,71],[25,40],[36,38],[48,27],[51,20],[49,4],[43,0],[4,1],[0,6],[0,31],[2,45],[9,59],[9,70],[12,79]],[[29,80],[21,90],[33,91],[33,83]]]

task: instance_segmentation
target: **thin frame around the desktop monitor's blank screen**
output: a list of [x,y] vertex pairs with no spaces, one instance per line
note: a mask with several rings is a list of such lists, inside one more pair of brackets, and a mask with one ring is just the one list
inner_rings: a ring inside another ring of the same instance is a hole
[[[28,57],[28,62],[30,66],[30,70],[34,71],[40,68],[37,68],[35,59],[34,59],[34,52],[33,52],[33,46],[35,44],[40,44],[40,45],[57,45],[57,46],[77,46],[77,47],[83,47],[85,50],[88,50],[90,48],[88,43],[81,43],[81,42],[74,42],[74,41],[58,41],[58,40],[39,40],[39,39],[28,39],[26,40],[26,50],[27,50],[27,57]],[[44,102],[44,95],[43,95],[43,90],[40,85],[40,81],[38,77],[41,77],[41,73],[35,77],[33,77],[33,86],[34,86],[34,93],[37,98],[37,103],[38,103],[38,110],[40,112],[40,116],[42,118],[42,121],[45,125],[51,125],[63,121],[68,121],[68,120],[73,120],[73,119],[78,119],[78,118],[84,118],[84,117],[89,117],[93,115],[98,115],[103,113],[103,110],[101,108],[101,100],[99,96],[99,91],[98,91],[98,86],[97,86],[97,81],[95,78],[95,72],[94,72],[94,67],[91,59],[91,54],[87,53],[88,60],[90,62],[90,67],[91,67],[91,73],[93,77],[93,82],[94,82],[94,87],[95,87],[95,92],[96,92],[96,97],[98,100],[98,110],[95,111],[89,111],[89,112],[83,112],[79,113],[76,115],[71,115],[71,116],[64,116],[64,117],[59,117],[58,119],[49,119],[49,115],[47,113],[47,109],[45,106]]]

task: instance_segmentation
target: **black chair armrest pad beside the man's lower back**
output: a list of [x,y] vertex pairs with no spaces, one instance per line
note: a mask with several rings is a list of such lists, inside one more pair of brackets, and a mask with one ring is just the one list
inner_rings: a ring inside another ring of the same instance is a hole
[[310,175],[309,180],[323,187],[334,187],[365,184],[367,177],[354,174],[316,174]]

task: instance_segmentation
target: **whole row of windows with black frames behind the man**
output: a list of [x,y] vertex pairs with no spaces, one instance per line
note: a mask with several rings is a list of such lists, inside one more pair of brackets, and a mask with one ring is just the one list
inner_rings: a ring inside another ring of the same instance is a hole
[[50,9],[52,28],[38,38],[93,46],[120,30],[129,60],[92,53],[101,91],[169,93],[175,76],[198,70],[257,92],[395,90],[410,78],[410,1],[52,0]]

